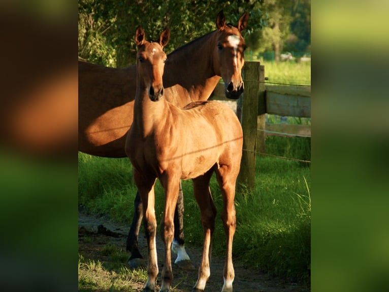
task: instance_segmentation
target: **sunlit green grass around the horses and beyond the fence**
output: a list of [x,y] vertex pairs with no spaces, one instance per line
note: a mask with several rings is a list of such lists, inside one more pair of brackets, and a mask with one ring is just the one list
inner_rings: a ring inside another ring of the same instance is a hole
[[[310,64],[280,63],[278,66],[265,66],[266,76],[269,76],[271,82],[310,84]],[[277,122],[279,117],[268,116],[268,119]],[[310,119],[288,118],[288,122],[310,125]],[[266,152],[310,160],[310,138],[269,136]],[[79,204],[92,213],[109,214],[129,226],[136,194],[129,160],[93,157],[83,153],[79,153],[78,159]],[[234,260],[245,262],[247,266],[270,275],[309,282],[310,164],[259,155],[256,159],[255,189],[248,191],[244,185],[240,185],[236,193]],[[214,177],[210,188],[220,218],[222,199]],[[191,181],[183,182],[183,192],[185,240],[187,246],[201,246],[199,238],[203,238],[203,230]],[[159,222],[164,205],[159,182],[155,193],[155,211]],[[213,244],[213,253],[223,255],[225,243],[221,220],[216,221]],[[80,269],[92,264],[80,259],[79,273]]]

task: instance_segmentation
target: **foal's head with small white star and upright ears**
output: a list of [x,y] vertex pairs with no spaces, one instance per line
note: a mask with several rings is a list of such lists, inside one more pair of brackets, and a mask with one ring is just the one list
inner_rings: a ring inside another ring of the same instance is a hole
[[135,43],[138,46],[137,74],[152,101],[158,101],[164,96],[162,75],[164,74],[166,53],[163,49],[168,44],[169,38],[169,28],[160,34],[156,42],[146,41],[145,32],[141,26],[138,26],[135,32]]

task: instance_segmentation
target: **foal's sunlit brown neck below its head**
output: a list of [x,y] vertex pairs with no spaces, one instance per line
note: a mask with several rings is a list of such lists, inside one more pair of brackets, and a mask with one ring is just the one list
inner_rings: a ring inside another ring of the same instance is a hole
[[[138,90],[141,89],[141,90]],[[159,101],[151,101],[147,90],[138,83],[134,103],[134,127],[143,137],[155,132],[167,115],[168,104],[163,97]]]

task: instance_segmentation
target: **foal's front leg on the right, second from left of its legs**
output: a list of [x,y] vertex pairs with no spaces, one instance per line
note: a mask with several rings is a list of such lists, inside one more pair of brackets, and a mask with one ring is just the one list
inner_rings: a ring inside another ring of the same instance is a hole
[[174,210],[176,209],[179,177],[165,176],[160,179],[161,185],[165,190],[165,212],[161,222],[160,232],[165,245],[165,264],[162,270],[162,284],[160,292],[170,291],[173,280],[171,246],[174,237]]

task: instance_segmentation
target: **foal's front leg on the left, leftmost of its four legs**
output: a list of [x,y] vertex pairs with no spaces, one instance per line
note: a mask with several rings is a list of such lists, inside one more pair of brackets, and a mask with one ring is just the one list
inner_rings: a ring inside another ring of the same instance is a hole
[[157,250],[155,243],[157,222],[154,209],[154,184],[155,178],[147,178],[134,169],[134,181],[138,187],[143,203],[143,223],[148,249],[147,282],[144,291],[154,291],[155,281],[158,275]]

